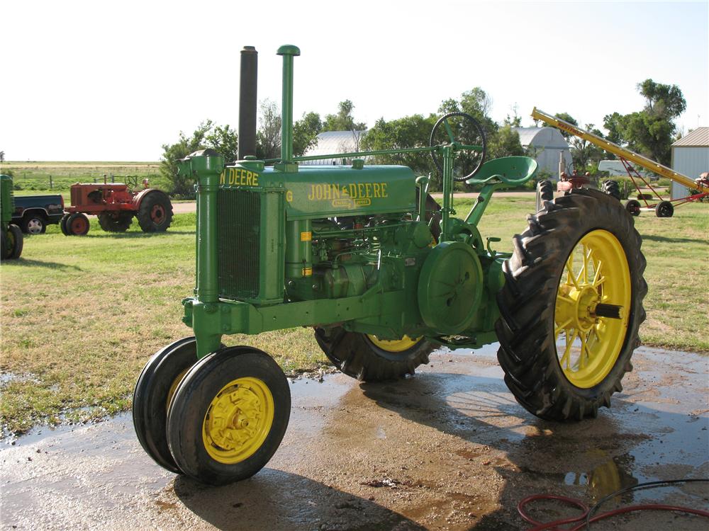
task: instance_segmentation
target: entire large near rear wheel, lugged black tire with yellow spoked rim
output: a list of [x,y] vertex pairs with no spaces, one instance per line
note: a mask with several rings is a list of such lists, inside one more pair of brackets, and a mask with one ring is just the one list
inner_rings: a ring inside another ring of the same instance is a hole
[[640,344],[640,234],[620,202],[596,190],[575,188],[528,219],[498,294],[505,382],[540,418],[596,416],[623,389]]

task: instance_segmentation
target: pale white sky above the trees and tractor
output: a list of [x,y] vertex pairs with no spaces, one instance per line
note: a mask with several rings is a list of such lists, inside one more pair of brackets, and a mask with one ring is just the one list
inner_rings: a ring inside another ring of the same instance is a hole
[[296,119],[354,102],[369,126],[435,112],[480,86],[501,122],[537,105],[582,125],[640,110],[635,85],[676,84],[685,131],[709,125],[709,2],[9,1],[0,150],[8,160],[155,161],[180,130],[238,125],[239,51],[280,104],[283,44]]

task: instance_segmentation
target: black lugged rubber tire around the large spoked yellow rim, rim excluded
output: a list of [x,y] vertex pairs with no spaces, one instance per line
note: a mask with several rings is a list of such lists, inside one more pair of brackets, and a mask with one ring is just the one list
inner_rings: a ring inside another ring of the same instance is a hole
[[[645,319],[642,299],[647,293],[640,234],[620,202],[586,188],[545,203],[528,219],[529,227],[515,236],[513,256],[503,266],[506,285],[497,297],[498,361],[505,382],[517,401],[540,418],[573,421],[596,416],[599,407],[610,406],[610,395],[623,389],[620,381],[632,370],[630,357],[640,345],[637,331]],[[601,382],[582,389],[566,379],[559,365],[554,308],[566,258],[584,234],[596,229],[613,234],[625,249],[630,319],[613,368]]]

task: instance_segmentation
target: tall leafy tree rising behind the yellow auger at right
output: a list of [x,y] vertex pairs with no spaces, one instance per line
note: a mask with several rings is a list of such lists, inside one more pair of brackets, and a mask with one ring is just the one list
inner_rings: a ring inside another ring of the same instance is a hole
[[645,98],[644,108],[627,115],[605,115],[603,126],[608,130],[608,139],[669,165],[677,130],[674,119],[686,109],[682,91],[676,85],[659,84],[652,79],[637,84],[637,90]]

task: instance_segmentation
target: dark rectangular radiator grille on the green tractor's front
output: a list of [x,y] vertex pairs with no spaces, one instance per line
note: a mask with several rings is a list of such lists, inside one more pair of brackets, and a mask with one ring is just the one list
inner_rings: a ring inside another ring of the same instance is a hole
[[261,195],[222,188],[217,194],[219,296],[259,296]]

